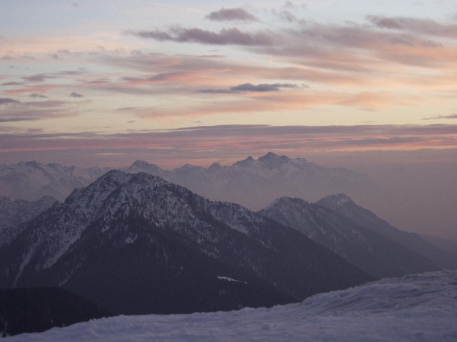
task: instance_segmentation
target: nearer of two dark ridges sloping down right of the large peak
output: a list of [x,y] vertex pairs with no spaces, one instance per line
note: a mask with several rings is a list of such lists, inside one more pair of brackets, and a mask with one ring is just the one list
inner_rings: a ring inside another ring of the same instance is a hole
[[377,278],[438,269],[432,261],[391,239],[299,198],[278,198],[259,213],[304,233]]

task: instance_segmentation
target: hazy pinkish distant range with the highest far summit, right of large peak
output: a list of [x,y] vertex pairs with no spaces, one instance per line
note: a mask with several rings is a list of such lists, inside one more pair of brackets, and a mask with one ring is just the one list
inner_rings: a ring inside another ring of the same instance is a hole
[[274,153],[258,159],[248,157],[232,166],[218,163],[209,168],[185,165],[169,171],[136,161],[125,171],[154,174],[211,200],[235,202],[251,210],[262,209],[282,196],[315,201],[339,192],[358,196],[379,190],[364,174]]

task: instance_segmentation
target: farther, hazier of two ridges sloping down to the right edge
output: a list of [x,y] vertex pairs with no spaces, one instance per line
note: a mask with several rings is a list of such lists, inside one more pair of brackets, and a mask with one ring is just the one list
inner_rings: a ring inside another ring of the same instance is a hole
[[[445,252],[441,248],[430,244],[419,234],[400,231],[391,226],[388,222],[378,218],[371,211],[357,205],[349,196],[337,194],[322,198],[317,202],[318,205],[332,209],[350,220],[374,231],[396,244],[404,246],[408,250],[420,254],[421,256],[433,261],[439,268],[457,268],[457,259],[455,256]],[[432,241],[432,240],[430,240]]]

